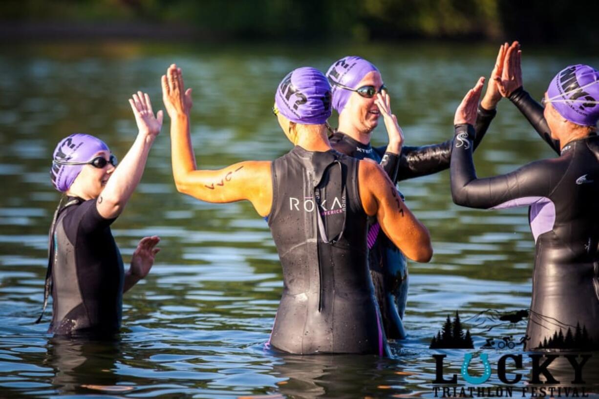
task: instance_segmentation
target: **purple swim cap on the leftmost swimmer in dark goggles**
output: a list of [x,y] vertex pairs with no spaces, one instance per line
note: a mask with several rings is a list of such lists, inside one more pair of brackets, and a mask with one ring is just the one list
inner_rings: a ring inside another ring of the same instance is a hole
[[67,191],[85,165],[60,165],[56,161],[87,162],[100,151],[110,151],[104,141],[89,134],[75,133],[58,143],[52,157],[50,177],[60,191]]

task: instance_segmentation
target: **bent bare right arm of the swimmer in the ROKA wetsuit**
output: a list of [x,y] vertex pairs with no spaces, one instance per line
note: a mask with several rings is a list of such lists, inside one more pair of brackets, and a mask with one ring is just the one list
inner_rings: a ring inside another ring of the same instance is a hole
[[360,199],[368,216],[376,215],[383,231],[406,256],[416,262],[432,257],[431,237],[406,204],[391,179],[376,162],[360,161]]

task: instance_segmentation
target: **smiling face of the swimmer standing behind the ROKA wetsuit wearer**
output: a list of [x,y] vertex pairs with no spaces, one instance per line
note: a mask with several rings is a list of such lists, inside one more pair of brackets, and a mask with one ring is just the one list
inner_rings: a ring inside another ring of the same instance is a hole
[[[380,87],[383,86],[383,79],[380,72],[368,72],[356,85],[355,89],[362,86],[374,86],[377,92],[379,92]],[[357,131],[370,134],[379,124],[380,111],[374,102],[375,99],[376,96],[365,98],[353,92],[343,111],[341,111],[339,118],[344,118]]]

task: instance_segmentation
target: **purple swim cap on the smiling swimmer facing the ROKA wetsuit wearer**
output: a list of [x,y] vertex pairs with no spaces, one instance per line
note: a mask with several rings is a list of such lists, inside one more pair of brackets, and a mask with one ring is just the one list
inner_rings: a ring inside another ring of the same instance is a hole
[[335,83],[343,84],[343,86],[357,89],[358,83],[368,74],[368,72],[379,71],[377,67],[364,58],[358,56],[349,56],[341,58],[326,72],[326,77],[331,83],[333,95],[333,108],[338,113],[343,111],[347,100],[353,94],[352,90],[343,89],[335,85]]

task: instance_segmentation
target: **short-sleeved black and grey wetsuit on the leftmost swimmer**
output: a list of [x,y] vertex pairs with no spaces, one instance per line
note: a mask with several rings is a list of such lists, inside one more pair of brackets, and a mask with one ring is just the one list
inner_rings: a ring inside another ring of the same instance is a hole
[[50,231],[52,322],[48,333],[110,335],[120,327],[123,260],[96,200],[67,197]]

